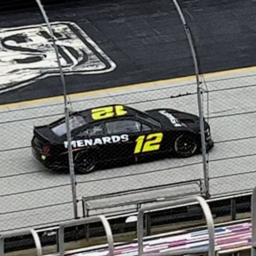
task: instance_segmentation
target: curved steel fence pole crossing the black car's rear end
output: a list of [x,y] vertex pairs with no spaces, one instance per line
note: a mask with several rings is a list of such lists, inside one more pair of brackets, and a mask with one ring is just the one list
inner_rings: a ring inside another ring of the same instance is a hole
[[67,101],[67,87],[66,82],[59,58],[59,50],[55,43],[55,37],[53,35],[52,27],[50,25],[49,19],[45,13],[44,7],[41,3],[41,0],[36,0],[36,3],[39,6],[39,9],[43,15],[44,21],[47,25],[47,28],[49,29],[49,33],[52,39],[54,51],[56,54],[59,70],[60,70],[60,79],[63,86],[63,98],[64,98],[64,105],[65,105],[65,119],[66,119],[66,129],[67,129],[67,141],[68,141],[68,160],[69,160],[69,172],[70,172],[70,180],[71,180],[71,187],[72,187],[72,197],[73,197],[73,209],[74,209],[74,218],[78,218],[77,213],[77,199],[76,199],[76,177],[75,177],[75,171],[74,171],[74,159],[73,159],[73,153],[72,153],[72,147],[71,147],[71,133],[69,129],[69,109],[68,109],[68,101]]

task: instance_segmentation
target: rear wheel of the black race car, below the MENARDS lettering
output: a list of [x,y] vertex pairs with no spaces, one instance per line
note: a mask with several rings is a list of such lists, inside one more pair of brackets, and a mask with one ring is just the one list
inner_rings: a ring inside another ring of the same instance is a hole
[[75,157],[75,171],[79,174],[93,172],[95,165],[95,158],[91,154],[78,153]]

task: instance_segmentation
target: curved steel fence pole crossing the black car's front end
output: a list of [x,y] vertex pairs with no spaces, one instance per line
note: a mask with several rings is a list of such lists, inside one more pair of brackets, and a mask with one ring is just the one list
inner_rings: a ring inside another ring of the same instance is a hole
[[203,113],[203,103],[202,103],[202,90],[201,90],[201,81],[199,78],[199,68],[198,68],[198,61],[195,51],[195,46],[193,43],[193,39],[190,33],[189,26],[185,20],[185,17],[181,11],[180,5],[178,4],[177,0],[172,0],[178,14],[180,20],[182,22],[183,28],[188,38],[189,47],[191,50],[194,68],[195,68],[195,75],[196,75],[196,84],[197,84],[197,103],[198,103],[198,111],[199,111],[199,122],[200,122],[200,131],[201,131],[201,144],[202,144],[202,157],[203,157],[203,170],[204,170],[204,187],[206,196],[209,197],[210,195],[210,187],[209,187],[209,170],[207,165],[207,157],[206,157],[206,145],[205,145],[205,133],[204,133],[204,113]]

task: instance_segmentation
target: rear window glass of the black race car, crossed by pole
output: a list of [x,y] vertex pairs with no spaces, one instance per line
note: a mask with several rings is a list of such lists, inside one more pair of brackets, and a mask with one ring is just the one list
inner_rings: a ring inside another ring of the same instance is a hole
[[[85,124],[86,124],[86,121],[83,116],[70,116],[69,117],[70,132],[78,127],[85,125]],[[52,132],[55,133],[59,137],[66,134],[67,126],[66,126],[65,119],[61,123],[52,127]]]

